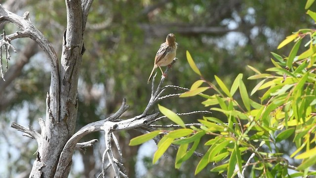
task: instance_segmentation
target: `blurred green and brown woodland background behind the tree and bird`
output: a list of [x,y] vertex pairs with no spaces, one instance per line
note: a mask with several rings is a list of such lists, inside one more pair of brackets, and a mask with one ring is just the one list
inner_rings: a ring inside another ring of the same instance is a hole
[[[190,88],[198,79],[186,60],[185,52],[189,50],[206,80],[214,81],[216,74],[231,86],[238,73],[243,73],[244,78],[253,74],[247,65],[261,71],[271,66],[271,51],[288,54],[290,48],[276,51],[285,36],[298,29],[314,27],[305,14],[305,3],[300,0],[95,0],[84,34],[86,51],[80,69],[77,130],[114,113],[123,97],[131,106],[123,117],[132,117],[144,110],[151,93],[147,79],[159,45],[168,33],[176,35],[179,46],[178,60],[169,72],[166,85]],[[30,11],[32,23],[61,55],[66,27],[64,1],[2,0],[1,4],[21,16]],[[315,11],[315,7],[311,10]],[[10,24],[0,24],[0,27],[7,34],[17,30]],[[38,118],[45,117],[50,72],[46,56],[34,42],[19,39],[12,44],[18,52],[12,55],[9,69],[17,64],[21,67],[13,79],[0,82],[0,144],[5,145],[0,157],[6,165],[0,172],[7,177],[23,177],[31,170],[36,142],[22,137],[9,125],[18,122],[39,129]],[[157,72],[159,80],[159,70]],[[244,82],[248,86],[256,84],[256,81]],[[180,113],[203,110],[201,101],[198,97],[173,98],[160,104]],[[186,119],[192,123],[199,118]],[[137,177],[138,147],[127,144],[139,133],[118,134],[129,176]],[[101,136],[88,135],[85,140]],[[94,148],[87,149],[81,156],[79,152],[76,154],[79,158],[74,162],[83,162],[74,163],[74,167],[81,164],[81,169],[72,171],[74,177],[81,177],[80,174],[93,177],[100,172],[102,141],[101,137]],[[202,147],[200,151],[203,153]],[[149,169],[147,177],[193,177],[195,166],[192,163],[196,165],[199,159],[192,159],[175,170],[172,158],[165,158]],[[209,177],[207,170],[199,177]]]

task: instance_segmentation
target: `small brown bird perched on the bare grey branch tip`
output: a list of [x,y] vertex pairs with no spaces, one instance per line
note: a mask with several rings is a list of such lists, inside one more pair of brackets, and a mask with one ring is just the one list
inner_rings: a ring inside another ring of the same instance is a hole
[[166,42],[160,45],[160,48],[156,54],[154,68],[147,83],[149,83],[149,81],[152,79],[153,73],[157,67],[159,67],[163,75],[160,66],[167,66],[172,62],[172,60],[176,57],[177,46],[178,44],[176,43],[176,36],[173,34],[167,35]]

